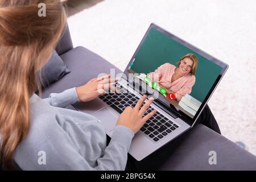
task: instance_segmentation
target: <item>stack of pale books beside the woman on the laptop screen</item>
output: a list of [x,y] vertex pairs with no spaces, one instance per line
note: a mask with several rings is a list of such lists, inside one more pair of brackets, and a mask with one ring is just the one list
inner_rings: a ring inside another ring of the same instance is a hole
[[196,115],[201,104],[202,102],[196,100],[189,94],[185,94],[179,101],[179,106],[192,115]]

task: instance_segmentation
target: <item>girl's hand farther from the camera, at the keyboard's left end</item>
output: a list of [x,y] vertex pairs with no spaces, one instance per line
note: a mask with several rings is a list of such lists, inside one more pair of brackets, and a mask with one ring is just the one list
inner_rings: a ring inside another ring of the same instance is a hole
[[76,87],[76,92],[81,102],[91,101],[100,95],[105,94],[106,89],[110,89],[113,92],[117,92],[112,85],[117,81],[117,78],[110,79],[110,74],[98,78],[93,78],[88,81],[87,84]]

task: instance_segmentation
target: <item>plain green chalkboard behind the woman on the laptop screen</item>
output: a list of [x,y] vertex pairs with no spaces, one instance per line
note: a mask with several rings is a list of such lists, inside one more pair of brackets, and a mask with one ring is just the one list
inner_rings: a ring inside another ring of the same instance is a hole
[[187,53],[193,53],[199,60],[195,75],[196,83],[191,96],[203,102],[222,68],[155,28],[151,28],[148,33],[131,69],[136,73],[150,73],[164,63],[171,63],[177,67],[177,61]]

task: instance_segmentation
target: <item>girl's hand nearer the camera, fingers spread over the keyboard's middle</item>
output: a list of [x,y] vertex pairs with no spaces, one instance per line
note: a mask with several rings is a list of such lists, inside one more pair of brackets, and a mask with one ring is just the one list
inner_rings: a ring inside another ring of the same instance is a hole
[[[123,125],[131,129],[133,133],[137,133],[139,129],[144,125],[144,123],[151,118],[156,110],[152,110],[150,113],[142,117],[143,113],[152,104],[154,98],[150,98],[143,106],[143,102],[146,100],[147,96],[141,97],[134,108],[127,106],[122,114],[119,115],[117,120],[117,125]],[[141,107],[142,106],[142,107]]]

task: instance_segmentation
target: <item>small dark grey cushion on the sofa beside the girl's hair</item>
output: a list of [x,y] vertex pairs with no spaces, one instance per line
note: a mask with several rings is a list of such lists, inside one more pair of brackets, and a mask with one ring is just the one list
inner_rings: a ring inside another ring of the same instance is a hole
[[64,64],[61,57],[57,54],[55,50],[53,50],[51,58],[40,70],[40,73],[38,73],[38,75],[40,75],[39,77],[42,86],[46,87],[70,72],[71,71]]

